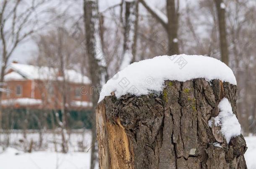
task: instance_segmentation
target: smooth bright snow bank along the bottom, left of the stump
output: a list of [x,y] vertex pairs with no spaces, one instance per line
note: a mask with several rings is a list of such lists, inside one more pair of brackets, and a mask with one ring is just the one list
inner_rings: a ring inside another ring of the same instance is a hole
[[8,148],[0,154],[0,169],[89,169],[90,153],[52,151],[24,153]]

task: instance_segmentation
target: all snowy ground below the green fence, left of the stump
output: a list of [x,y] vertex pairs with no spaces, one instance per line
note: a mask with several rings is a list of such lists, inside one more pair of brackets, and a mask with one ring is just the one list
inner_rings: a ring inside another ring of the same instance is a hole
[[[5,148],[9,136],[10,146]],[[39,148],[38,131],[26,131],[26,138],[22,130],[10,131],[10,134],[0,134],[0,169],[88,169],[90,167],[91,133],[89,130],[73,130],[65,134],[68,142],[68,153],[61,153],[62,137],[60,130],[44,131],[42,146]],[[24,153],[29,149],[33,140],[31,153]],[[54,144],[56,143],[56,144]],[[58,152],[55,152],[55,147]],[[88,151],[88,152],[87,152]]]

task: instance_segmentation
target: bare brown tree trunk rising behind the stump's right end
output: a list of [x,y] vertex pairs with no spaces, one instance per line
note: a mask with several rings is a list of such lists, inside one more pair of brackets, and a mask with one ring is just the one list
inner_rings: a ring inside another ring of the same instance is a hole
[[214,0],[217,8],[219,21],[219,46],[221,51],[221,61],[228,66],[227,33],[225,21],[225,4],[222,0]]

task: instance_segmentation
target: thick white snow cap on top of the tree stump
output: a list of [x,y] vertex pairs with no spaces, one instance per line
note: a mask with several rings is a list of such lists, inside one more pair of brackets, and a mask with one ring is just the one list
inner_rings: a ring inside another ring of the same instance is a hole
[[162,91],[165,80],[188,81],[195,78],[219,79],[236,85],[232,70],[223,62],[202,55],[157,56],[132,63],[103,86],[99,102],[114,91],[119,98],[127,93],[141,96]]

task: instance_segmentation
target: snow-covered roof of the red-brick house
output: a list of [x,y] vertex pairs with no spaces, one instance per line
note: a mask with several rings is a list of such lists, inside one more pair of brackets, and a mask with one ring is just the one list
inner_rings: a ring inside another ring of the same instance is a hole
[[[13,72],[5,75],[5,81],[24,78],[31,80],[63,80],[63,77],[58,76],[59,71],[57,68],[10,63],[8,70],[13,70]],[[91,83],[87,76],[83,76],[81,73],[71,69],[65,70],[65,76],[66,80],[72,83]]]

